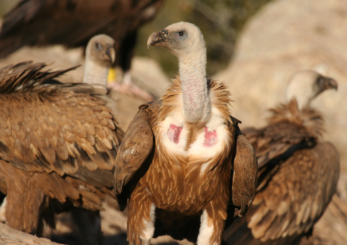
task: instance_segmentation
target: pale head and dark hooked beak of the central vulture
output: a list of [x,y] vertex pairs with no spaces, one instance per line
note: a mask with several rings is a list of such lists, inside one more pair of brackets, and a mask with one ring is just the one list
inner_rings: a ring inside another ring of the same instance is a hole
[[200,29],[188,22],[169,25],[160,32],[154,32],[147,41],[147,46],[166,47],[179,60],[192,55],[204,55],[206,59],[206,43]]

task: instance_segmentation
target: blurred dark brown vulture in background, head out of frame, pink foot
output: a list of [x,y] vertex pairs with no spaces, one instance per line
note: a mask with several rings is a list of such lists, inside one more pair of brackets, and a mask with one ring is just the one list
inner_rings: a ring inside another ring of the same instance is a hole
[[[0,58],[24,45],[86,46],[95,35],[115,40],[117,60],[125,72],[124,89],[141,93],[131,83],[130,61],[137,28],[151,20],[163,0],[23,0],[3,20]],[[118,89],[122,89],[118,86]],[[140,94],[143,95],[143,94]]]

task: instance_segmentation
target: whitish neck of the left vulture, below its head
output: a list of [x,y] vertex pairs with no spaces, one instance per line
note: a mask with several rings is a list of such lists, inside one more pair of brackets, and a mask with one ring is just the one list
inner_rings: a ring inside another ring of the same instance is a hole
[[92,59],[86,59],[83,82],[86,84],[107,85],[107,76],[110,67],[101,65]]

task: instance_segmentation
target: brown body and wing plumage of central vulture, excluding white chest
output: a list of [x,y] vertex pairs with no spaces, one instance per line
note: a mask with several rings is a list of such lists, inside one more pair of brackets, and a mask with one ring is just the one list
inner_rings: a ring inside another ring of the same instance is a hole
[[[159,124],[170,112],[177,110],[176,100],[182,93],[178,79],[174,80],[174,85],[170,86],[161,100],[142,105],[130,123],[120,147],[115,171],[115,191],[121,209],[125,208],[128,196],[131,195],[128,227],[134,226],[143,215],[146,215],[145,209],[151,207],[146,205],[146,202],[153,202],[156,206],[154,237],[169,234],[175,239],[187,238],[196,242],[203,208],[206,208],[209,214],[214,214],[216,220],[226,219],[226,211],[222,210],[226,210],[229,200],[228,187],[232,163],[236,173],[232,182],[232,201],[236,206],[241,207],[243,213],[251,204],[256,180],[248,182],[244,179],[256,177],[256,171],[254,172],[256,159],[253,149],[240,133],[237,126],[239,121],[229,116],[227,107],[230,101],[229,92],[225,90],[225,86],[210,80],[209,89],[212,95],[212,106],[221,108],[221,113],[228,116],[226,120],[229,130],[228,138],[235,139],[223,147],[224,150],[220,152],[220,155],[211,159],[199,159],[199,157],[186,159],[171,154],[160,144]],[[204,125],[200,127],[200,132],[203,130]],[[194,137],[196,136],[192,136]],[[193,139],[192,142],[194,141]],[[236,149],[243,152],[237,154]],[[129,154],[129,151],[132,154]],[[234,160],[233,154],[238,159]],[[214,164],[209,165],[209,168],[205,170],[206,173],[201,176],[201,165],[205,162]],[[179,163],[180,167],[175,167],[174,163]],[[238,166],[240,169],[237,168]],[[253,168],[249,170],[250,167]],[[239,183],[236,177],[240,178]],[[244,185],[247,185],[247,188]],[[161,190],[163,193],[160,193]],[[157,192],[160,194],[154,194]],[[170,215],[171,219],[178,219],[183,224],[180,224],[179,228],[172,227],[175,221],[168,219]],[[188,222],[185,223],[184,216],[187,215],[191,217],[187,218]],[[145,218],[150,219],[150,217]],[[192,224],[197,230],[190,230],[189,227]],[[172,228],[176,230],[170,230]],[[221,231],[218,232],[221,234]],[[219,235],[217,234],[216,237]],[[130,244],[132,242],[138,244],[136,237],[128,237],[128,239],[132,239],[129,240]],[[212,241],[211,244],[213,244]]]

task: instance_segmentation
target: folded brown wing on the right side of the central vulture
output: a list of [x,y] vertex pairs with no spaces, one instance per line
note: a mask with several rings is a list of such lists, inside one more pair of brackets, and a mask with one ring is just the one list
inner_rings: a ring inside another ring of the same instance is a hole
[[251,143],[242,135],[237,124],[235,128],[236,151],[232,176],[232,203],[240,207],[239,216],[242,216],[248,210],[255,195],[258,163]]

